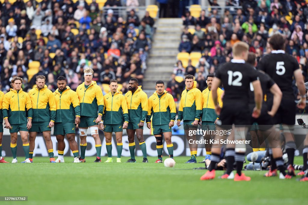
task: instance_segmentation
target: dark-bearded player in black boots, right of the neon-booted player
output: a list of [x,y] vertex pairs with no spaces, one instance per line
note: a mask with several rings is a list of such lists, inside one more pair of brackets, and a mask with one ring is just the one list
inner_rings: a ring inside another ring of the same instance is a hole
[[135,132],[137,135],[137,139],[139,141],[140,148],[143,153],[143,161],[144,163],[148,163],[147,159],[147,147],[145,145],[145,141],[143,139],[143,125],[145,118],[148,114],[148,96],[141,89],[141,85],[138,86],[137,78],[131,78],[128,82],[128,92],[125,94],[125,99],[127,102],[128,108],[128,127],[127,127],[127,135],[128,135],[128,146],[129,152],[131,154],[131,159],[127,160],[129,163],[136,162],[135,159]]

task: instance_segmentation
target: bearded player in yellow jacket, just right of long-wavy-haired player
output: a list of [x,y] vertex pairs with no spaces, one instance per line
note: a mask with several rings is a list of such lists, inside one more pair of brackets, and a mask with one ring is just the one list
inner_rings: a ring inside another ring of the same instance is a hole
[[51,128],[55,123],[56,104],[52,91],[45,85],[45,79],[46,78],[43,75],[37,76],[35,88],[31,89],[28,93],[33,109],[32,127],[29,130],[29,160],[33,162],[35,138],[38,132],[42,132],[46,142],[49,160],[51,163],[55,163],[54,150],[51,141]]

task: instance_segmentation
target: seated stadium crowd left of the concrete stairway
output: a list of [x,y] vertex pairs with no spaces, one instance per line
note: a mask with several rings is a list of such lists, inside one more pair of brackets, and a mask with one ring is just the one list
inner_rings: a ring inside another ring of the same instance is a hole
[[[27,91],[37,75],[46,77],[51,91],[57,89],[59,76],[65,76],[75,90],[87,67],[94,70],[93,80],[99,85],[111,79],[125,84],[132,77],[142,85],[154,20],[148,12],[138,17],[133,9],[138,1],[123,5],[132,8],[127,18],[116,12],[122,6],[119,0],[108,0],[104,6],[110,9],[103,12],[95,0],[90,4],[84,0],[10,2],[14,1],[5,0],[0,9],[2,91],[10,90],[15,76],[24,79]],[[127,87],[123,86],[124,93]]]

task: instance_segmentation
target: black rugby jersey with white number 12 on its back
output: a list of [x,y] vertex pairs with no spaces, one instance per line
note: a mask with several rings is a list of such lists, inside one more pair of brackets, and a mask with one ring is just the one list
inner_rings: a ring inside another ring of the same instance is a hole
[[216,72],[225,89],[225,103],[249,103],[250,82],[257,80],[257,71],[244,60],[232,59]]

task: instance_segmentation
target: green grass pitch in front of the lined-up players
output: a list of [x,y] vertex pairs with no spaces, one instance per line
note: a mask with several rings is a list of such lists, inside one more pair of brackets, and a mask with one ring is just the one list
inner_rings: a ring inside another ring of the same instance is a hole
[[[0,204],[290,205],[305,204],[307,199],[308,183],[265,178],[265,171],[245,171],[252,178],[249,182],[201,181],[205,170],[193,168],[204,164],[184,164],[188,157],[176,157],[174,168],[154,164],[156,157],[149,157],[148,164],[141,163],[141,157],[136,158],[139,163],[121,164],[93,163],[95,157],[79,164],[71,163],[73,157],[64,159],[59,164],[47,163],[46,157],[34,157],[33,164],[0,164],[0,196],[28,196],[28,202]],[[302,157],[294,163],[302,164]],[[222,175],[222,171],[216,173],[216,177]]]

